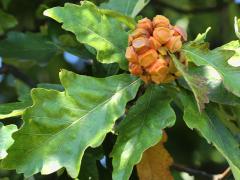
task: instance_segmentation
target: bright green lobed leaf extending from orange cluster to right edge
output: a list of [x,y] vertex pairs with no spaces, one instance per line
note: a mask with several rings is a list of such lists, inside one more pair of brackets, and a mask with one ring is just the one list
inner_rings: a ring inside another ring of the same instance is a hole
[[207,43],[190,42],[183,47],[188,61],[198,66],[211,66],[222,77],[226,89],[236,96],[240,96],[240,67],[228,64],[228,59],[234,55],[234,51],[214,49],[209,50]]

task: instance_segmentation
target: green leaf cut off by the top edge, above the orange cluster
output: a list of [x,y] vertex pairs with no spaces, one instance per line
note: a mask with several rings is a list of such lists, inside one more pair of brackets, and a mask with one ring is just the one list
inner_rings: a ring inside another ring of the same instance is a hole
[[149,2],[150,0],[109,0],[102,3],[100,7],[112,9],[134,18]]

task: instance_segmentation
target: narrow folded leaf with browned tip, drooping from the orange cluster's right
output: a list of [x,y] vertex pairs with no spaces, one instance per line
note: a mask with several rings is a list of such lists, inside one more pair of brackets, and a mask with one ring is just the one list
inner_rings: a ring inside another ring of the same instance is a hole
[[171,57],[176,68],[183,75],[183,78],[186,80],[190,89],[193,91],[199,111],[202,111],[205,108],[205,103],[209,103],[206,79],[188,72],[186,67],[181,62],[179,62],[175,55],[172,54]]

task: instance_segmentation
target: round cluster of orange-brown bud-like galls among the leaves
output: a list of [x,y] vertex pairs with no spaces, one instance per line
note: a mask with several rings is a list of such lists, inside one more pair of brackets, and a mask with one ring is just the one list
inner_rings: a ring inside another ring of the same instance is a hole
[[139,20],[128,38],[125,56],[129,61],[129,71],[145,83],[160,84],[175,80],[180,73],[169,53],[183,59],[179,52],[186,40],[184,30],[172,26],[165,16],[157,15],[152,21],[148,18]]

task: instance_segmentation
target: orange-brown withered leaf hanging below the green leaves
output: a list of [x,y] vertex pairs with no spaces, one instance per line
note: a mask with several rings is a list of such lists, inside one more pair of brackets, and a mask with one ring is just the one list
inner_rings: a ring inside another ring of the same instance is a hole
[[163,145],[167,140],[165,136],[166,134],[164,133],[162,140],[158,144],[143,153],[140,163],[137,164],[140,180],[173,180],[169,169],[173,159]]

